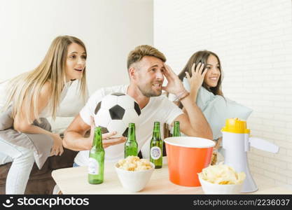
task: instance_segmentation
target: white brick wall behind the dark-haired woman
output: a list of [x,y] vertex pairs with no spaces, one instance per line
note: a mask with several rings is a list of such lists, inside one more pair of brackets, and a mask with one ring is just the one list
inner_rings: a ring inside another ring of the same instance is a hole
[[292,188],[291,0],[154,1],[154,44],[178,73],[197,50],[221,59],[225,97],[253,109],[251,134],[280,146],[252,149],[254,176]]

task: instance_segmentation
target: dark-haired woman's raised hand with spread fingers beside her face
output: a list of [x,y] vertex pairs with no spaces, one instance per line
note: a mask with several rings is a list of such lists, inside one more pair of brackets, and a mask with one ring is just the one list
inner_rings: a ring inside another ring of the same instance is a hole
[[204,70],[204,64],[199,63],[197,66],[193,64],[192,66],[192,76],[186,71],[186,78],[188,78],[188,83],[190,83],[190,94],[197,95],[197,91],[202,86],[202,83],[204,81],[204,76],[207,73],[207,69]]

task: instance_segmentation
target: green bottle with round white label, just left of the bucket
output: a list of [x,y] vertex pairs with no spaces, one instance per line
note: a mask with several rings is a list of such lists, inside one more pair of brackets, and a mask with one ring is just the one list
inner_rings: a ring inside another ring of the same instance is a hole
[[155,169],[162,168],[163,141],[160,137],[160,123],[154,122],[153,137],[150,142],[150,162]]

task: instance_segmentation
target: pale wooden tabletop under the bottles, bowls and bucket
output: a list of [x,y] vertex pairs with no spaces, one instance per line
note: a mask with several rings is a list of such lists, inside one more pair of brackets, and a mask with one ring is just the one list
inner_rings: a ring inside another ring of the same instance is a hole
[[[129,193],[123,188],[114,169],[114,163],[105,164],[104,183],[99,185],[88,183],[88,167],[57,169],[52,172],[52,176],[63,194],[203,194],[201,187],[177,186],[169,181],[167,159],[164,158],[163,162],[162,169],[155,169],[151,180],[138,193]],[[291,190],[267,185],[260,179],[255,181],[259,190],[252,194],[292,194]]]

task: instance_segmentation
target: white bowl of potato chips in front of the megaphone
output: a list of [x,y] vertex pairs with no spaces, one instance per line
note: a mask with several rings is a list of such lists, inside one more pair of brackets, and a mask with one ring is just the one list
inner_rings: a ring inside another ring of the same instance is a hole
[[228,165],[211,165],[198,176],[204,194],[239,194],[246,177]]

